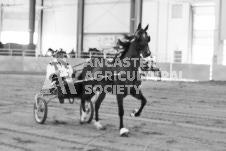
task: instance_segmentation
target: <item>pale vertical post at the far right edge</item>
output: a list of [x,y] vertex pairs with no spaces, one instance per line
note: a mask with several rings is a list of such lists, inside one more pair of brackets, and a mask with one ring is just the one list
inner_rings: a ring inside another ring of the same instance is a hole
[[215,32],[213,63],[223,64],[223,41],[221,40],[221,12],[222,0],[215,1]]

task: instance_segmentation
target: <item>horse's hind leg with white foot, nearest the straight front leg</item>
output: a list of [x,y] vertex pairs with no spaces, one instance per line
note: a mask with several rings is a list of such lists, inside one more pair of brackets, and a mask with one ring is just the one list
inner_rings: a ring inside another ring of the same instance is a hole
[[104,100],[105,96],[106,96],[106,93],[104,93],[104,92],[100,93],[98,98],[97,98],[97,100],[96,100],[96,103],[95,103],[95,121],[94,121],[94,125],[99,130],[105,129],[105,127],[102,126],[100,124],[100,122],[99,122],[99,108],[100,108],[100,105],[101,105],[102,101]]

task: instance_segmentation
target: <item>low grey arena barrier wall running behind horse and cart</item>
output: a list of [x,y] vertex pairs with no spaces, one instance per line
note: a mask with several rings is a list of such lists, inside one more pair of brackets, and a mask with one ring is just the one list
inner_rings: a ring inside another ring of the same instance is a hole
[[[0,73],[29,73],[29,74],[46,74],[46,66],[50,58],[41,57],[8,57],[0,56]],[[86,59],[82,58],[67,58],[67,62],[72,66],[84,63]],[[82,69],[84,64],[75,67],[74,69]],[[170,64],[158,63],[161,68],[164,78],[172,79],[190,79],[190,80],[209,80],[209,65],[191,65],[191,64]],[[213,79],[226,80],[222,71],[225,71],[225,66],[217,66],[214,68]],[[225,72],[224,72],[225,73]]]

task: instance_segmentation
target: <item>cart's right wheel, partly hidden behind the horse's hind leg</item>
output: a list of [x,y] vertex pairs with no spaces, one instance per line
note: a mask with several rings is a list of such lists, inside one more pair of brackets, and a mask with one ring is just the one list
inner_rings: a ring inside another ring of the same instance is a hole
[[[92,101],[86,101],[85,102],[85,117],[83,117],[83,121],[81,121],[82,123],[90,123],[93,119],[93,103]],[[80,105],[80,118],[82,118],[82,104]]]

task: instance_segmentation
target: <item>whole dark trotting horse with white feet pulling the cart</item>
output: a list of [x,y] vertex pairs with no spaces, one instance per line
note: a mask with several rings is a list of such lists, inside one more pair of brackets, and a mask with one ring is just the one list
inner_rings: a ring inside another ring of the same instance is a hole
[[[103,58],[102,60],[100,58],[94,58],[84,67],[82,73],[78,76],[79,80],[84,80],[81,97],[81,105],[83,108],[81,123],[86,116],[85,102],[91,100],[98,91],[99,95],[95,102],[94,125],[97,129],[104,129],[104,126],[99,122],[98,113],[101,102],[104,100],[107,91],[117,96],[120,117],[120,135],[128,136],[129,130],[123,125],[124,97],[130,94],[138,100],[141,100],[140,109],[135,109],[135,111],[131,113],[131,116],[134,117],[140,116],[147,102],[140,89],[141,79],[138,70],[141,63],[140,58],[147,57],[151,54],[148,46],[150,36],[147,34],[147,29],[148,25],[142,29],[141,24],[139,24],[137,31],[132,36],[125,36],[125,39],[127,39],[126,42],[119,40],[119,45],[123,47],[124,51],[115,57],[111,63]],[[98,61],[101,61],[102,64],[95,64],[95,62]],[[93,79],[87,80],[89,79],[87,75],[90,74]],[[97,74],[98,77],[96,78],[95,75]]]

